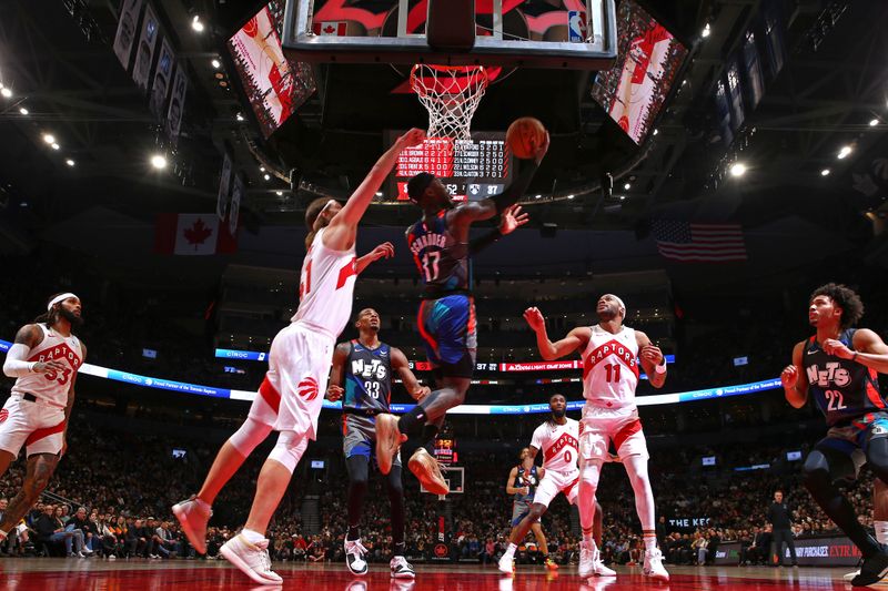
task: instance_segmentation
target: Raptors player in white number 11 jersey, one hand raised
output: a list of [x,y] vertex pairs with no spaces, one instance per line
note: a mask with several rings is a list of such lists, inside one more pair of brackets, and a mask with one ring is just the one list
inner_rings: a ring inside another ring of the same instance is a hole
[[593,518],[595,490],[613,441],[626,468],[635,493],[635,509],[642,522],[645,543],[646,577],[668,581],[663,553],[657,548],[654,493],[647,475],[647,444],[635,406],[638,386],[638,360],[655,388],[666,381],[663,351],[647,335],[623,325],[626,305],[615,295],[603,295],[596,307],[598,324],[579,326],[566,337],[552,343],[546,320],[537,308],[527,308],[524,318],[536,333],[543,359],[552,360],[579,350],[583,357],[583,418],[579,422],[579,521],[583,541],[579,547],[579,575],[593,572]]

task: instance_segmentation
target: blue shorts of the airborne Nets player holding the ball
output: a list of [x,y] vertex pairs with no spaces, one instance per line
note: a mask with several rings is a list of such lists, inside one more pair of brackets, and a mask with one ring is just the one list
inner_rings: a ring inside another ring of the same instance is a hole
[[445,376],[471,378],[477,353],[475,300],[465,294],[423,299],[416,326],[428,361]]

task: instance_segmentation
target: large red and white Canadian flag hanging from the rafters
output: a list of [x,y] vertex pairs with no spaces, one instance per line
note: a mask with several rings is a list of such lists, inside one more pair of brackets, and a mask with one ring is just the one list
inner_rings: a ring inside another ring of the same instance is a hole
[[212,213],[162,213],[154,226],[154,252],[176,255],[231,254],[238,238]]

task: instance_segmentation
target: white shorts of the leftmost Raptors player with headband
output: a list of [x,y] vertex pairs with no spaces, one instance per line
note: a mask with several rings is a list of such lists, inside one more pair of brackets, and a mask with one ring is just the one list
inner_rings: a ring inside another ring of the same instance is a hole
[[42,401],[10,396],[0,410],[0,449],[19,456],[26,447],[34,454],[58,456],[64,445],[64,409]]

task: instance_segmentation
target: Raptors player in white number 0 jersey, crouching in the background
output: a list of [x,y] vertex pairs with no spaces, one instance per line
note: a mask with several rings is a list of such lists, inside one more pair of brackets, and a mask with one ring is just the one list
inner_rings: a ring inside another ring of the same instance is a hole
[[[576,503],[577,497],[577,480],[579,479],[579,470],[577,469],[577,459],[579,457],[579,422],[575,419],[567,418],[567,400],[561,394],[554,394],[548,399],[548,407],[552,411],[549,419],[534,430],[531,439],[531,447],[528,448],[528,457],[531,461],[536,457],[536,454],[543,451],[543,476],[539,487],[533,496],[533,502],[517,527],[512,530],[512,536],[508,540],[508,548],[503,557],[500,559],[500,570],[502,572],[512,573],[513,559],[518,543],[527,536],[527,531],[534,526],[539,527],[539,518],[548,509],[552,500],[564,493],[567,502],[571,505]],[[514,468],[513,468],[514,469]],[[514,517],[514,516],[513,516]],[[596,503],[595,520],[597,524],[597,538],[601,543],[601,506]],[[515,523],[513,522],[513,526]],[[542,531],[537,536],[537,540],[543,537]],[[595,538],[595,536],[593,536]],[[595,544],[595,540],[593,540]],[[542,549],[546,568],[555,570],[558,565],[548,558],[546,551],[545,537],[543,537]],[[608,569],[602,562],[601,554],[597,547],[595,547],[593,556],[592,574],[598,577],[613,577],[616,574],[613,570]]]

